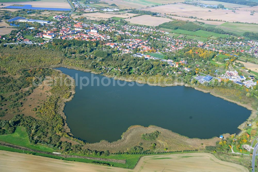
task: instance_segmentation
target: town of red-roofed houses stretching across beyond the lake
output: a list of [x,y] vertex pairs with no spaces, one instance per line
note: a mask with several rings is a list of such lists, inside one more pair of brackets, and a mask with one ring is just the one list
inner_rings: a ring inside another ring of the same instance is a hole
[[[75,7],[80,7],[80,10],[84,11],[94,11],[94,8],[89,8],[89,6],[82,6],[73,2]],[[101,9],[103,11],[116,11],[119,9]],[[17,20],[15,20],[17,19]],[[131,54],[133,57],[146,58],[149,60],[160,60],[166,62],[170,67],[178,68],[180,65],[181,74],[182,71],[190,72],[195,71],[195,69],[189,68],[187,60],[180,59],[179,61],[160,58],[166,53],[173,53],[183,49],[186,46],[195,46],[203,48],[209,51],[213,51],[220,54],[227,54],[228,57],[234,56],[238,57],[238,53],[254,55],[258,58],[258,42],[249,40],[244,41],[243,37],[238,37],[238,41],[226,41],[225,40],[208,40],[206,42],[186,39],[183,36],[175,37],[168,32],[158,29],[157,27],[151,26],[139,26],[139,25],[116,25],[115,22],[110,22],[109,24],[94,24],[87,22],[80,22],[73,20],[66,14],[60,14],[53,16],[52,21],[36,20],[36,19],[26,19],[26,18],[13,18],[10,21],[17,22],[30,22],[39,23],[42,27],[28,27],[31,33],[36,33],[35,38],[41,38],[43,42],[35,42],[35,40],[30,40],[22,36],[24,30],[19,30],[17,34],[12,38],[13,43],[8,44],[39,44],[44,45],[47,42],[51,42],[53,39],[63,39],[63,40],[82,40],[82,41],[102,41],[105,42],[103,45],[108,46],[121,54]],[[113,35],[113,37],[112,37]],[[115,39],[114,39],[115,36]],[[9,40],[8,37],[3,37],[4,40]],[[117,40],[119,38],[119,40]],[[149,39],[154,41],[159,41],[162,43],[162,48],[154,48],[149,42]],[[156,55],[155,55],[156,54]],[[229,60],[225,58],[224,61]],[[185,66],[185,67],[184,67]],[[196,65],[195,67],[198,67]],[[110,67],[106,67],[107,71],[111,71]],[[112,68],[111,68],[112,69]],[[115,69],[117,70],[117,69]],[[245,69],[242,69],[245,70]],[[248,71],[247,71],[248,72]],[[175,72],[174,72],[175,73]],[[168,75],[168,74],[167,74]],[[238,75],[236,71],[226,71],[223,74],[214,73],[214,76],[209,76],[206,74],[197,75],[195,78],[200,83],[211,82],[215,79],[221,81],[223,79],[231,80],[237,84],[244,85],[248,88],[256,85],[256,79],[253,75],[248,77]]]

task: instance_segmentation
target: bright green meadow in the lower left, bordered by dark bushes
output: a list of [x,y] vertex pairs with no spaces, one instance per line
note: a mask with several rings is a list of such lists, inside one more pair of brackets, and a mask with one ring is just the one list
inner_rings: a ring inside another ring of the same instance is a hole
[[30,149],[45,151],[45,152],[54,152],[55,149],[46,147],[43,145],[31,145],[29,143],[29,137],[25,128],[17,127],[13,134],[9,135],[0,135],[0,141],[11,143],[14,145],[28,147]]

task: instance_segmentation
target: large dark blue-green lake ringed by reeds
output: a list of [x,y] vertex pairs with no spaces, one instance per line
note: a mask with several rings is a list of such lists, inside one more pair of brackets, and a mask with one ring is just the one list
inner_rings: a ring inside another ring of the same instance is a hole
[[57,69],[74,79],[76,75],[78,80],[89,78],[88,86],[76,86],[74,98],[66,103],[64,112],[72,134],[90,143],[118,140],[132,125],[156,125],[190,138],[212,138],[238,133],[237,127],[251,114],[242,106],[191,87],[138,86],[135,82],[134,86],[129,82],[119,86],[113,79],[109,86],[97,86],[97,79],[91,86],[92,76],[100,81],[105,78],[105,84],[108,79],[75,69]]

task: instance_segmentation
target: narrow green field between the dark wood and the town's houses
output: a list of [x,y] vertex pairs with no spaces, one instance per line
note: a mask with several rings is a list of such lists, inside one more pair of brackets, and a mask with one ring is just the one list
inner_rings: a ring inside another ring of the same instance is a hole
[[188,30],[181,30],[181,29],[176,29],[172,30],[172,33],[177,33],[177,34],[184,34],[184,35],[190,35],[190,36],[198,36],[198,37],[204,37],[204,38],[209,38],[211,36],[213,37],[228,37],[228,35],[223,35],[223,34],[217,34],[213,32],[207,32],[204,30],[197,30],[196,32],[188,31]]

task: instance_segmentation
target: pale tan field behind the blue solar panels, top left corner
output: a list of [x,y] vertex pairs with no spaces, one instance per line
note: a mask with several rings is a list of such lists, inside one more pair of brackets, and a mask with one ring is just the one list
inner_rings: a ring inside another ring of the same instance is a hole
[[0,7],[5,7],[14,4],[32,5],[32,7],[45,8],[71,8],[67,0],[41,0],[41,1],[25,1],[25,2],[4,2]]

